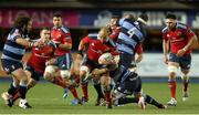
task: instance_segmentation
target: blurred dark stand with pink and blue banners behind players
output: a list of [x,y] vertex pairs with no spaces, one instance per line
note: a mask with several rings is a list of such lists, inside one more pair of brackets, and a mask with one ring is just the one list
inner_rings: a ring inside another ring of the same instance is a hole
[[198,0],[1,0],[0,1],[0,49],[18,14],[27,14],[33,21],[30,38],[39,38],[39,29],[52,27],[52,14],[60,12],[63,23],[70,28],[73,50],[81,38],[97,32],[112,15],[132,13],[135,17],[146,12],[149,17],[144,50],[161,52],[161,29],[167,12],[177,14],[179,21],[199,32]]

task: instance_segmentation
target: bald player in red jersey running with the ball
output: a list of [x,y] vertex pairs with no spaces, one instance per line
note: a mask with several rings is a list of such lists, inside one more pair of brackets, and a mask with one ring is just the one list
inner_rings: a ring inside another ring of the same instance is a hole
[[[82,52],[86,51],[86,54],[83,59],[83,63],[80,70],[80,79],[81,79],[81,87],[83,91],[83,102],[87,102],[88,94],[87,94],[87,76],[93,71],[93,69],[101,66],[98,64],[98,58],[101,54],[105,52],[109,52],[111,45],[108,42],[108,29],[102,28],[98,33],[96,34],[88,34],[87,36],[83,38],[78,45],[78,54],[77,56],[83,56]],[[96,105],[98,105],[98,101],[103,98],[101,85],[97,79],[93,79],[94,87],[97,92],[97,100]]]

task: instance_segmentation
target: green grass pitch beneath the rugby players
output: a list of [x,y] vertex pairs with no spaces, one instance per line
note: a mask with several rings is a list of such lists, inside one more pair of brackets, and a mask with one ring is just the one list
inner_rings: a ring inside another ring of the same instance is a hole
[[[0,83],[0,93],[7,90],[8,83]],[[144,83],[145,93],[151,95],[157,101],[166,103],[168,101],[168,87],[165,83]],[[90,102],[85,105],[70,106],[69,98],[63,100],[63,90],[50,84],[40,83],[28,93],[28,101],[33,106],[30,109],[22,109],[17,106],[8,107],[0,100],[0,114],[199,114],[199,84],[190,85],[190,98],[188,102],[181,101],[181,84],[177,88],[177,106],[169,106],[167,109],[158,109],[147,105],[146,109],[140,109],[136,104],[106,109],[105,106],[94,106],[96,93],[90,86]],[[80,90],[78,90],[80,91]]]

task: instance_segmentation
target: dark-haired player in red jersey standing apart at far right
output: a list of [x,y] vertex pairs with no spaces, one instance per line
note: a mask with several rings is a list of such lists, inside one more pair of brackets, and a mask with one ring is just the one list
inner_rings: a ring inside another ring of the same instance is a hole
[[177,104],[176,74],[179,67],[182,73],[181,80],[184,83],[182,101],[187,101],[189,97],[190,46],[197,40],[197,36],[188,25],[177,22],[176,15],[172,13],[166,15],[165,23],[166,28],[163,30],[164,62],[168,65],[168,86],[170,88],[170,101],[167,104],[175,106]]

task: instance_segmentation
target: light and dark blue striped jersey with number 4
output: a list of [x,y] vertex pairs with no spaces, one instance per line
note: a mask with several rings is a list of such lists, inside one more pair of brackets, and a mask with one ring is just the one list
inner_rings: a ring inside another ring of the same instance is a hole
[[121,19],[118,24],[121,25],[121,32],[116,42],[118,51],[134,54],[135,46],[140,43],[146,35],[143,27],[138,22],[129,19]]

